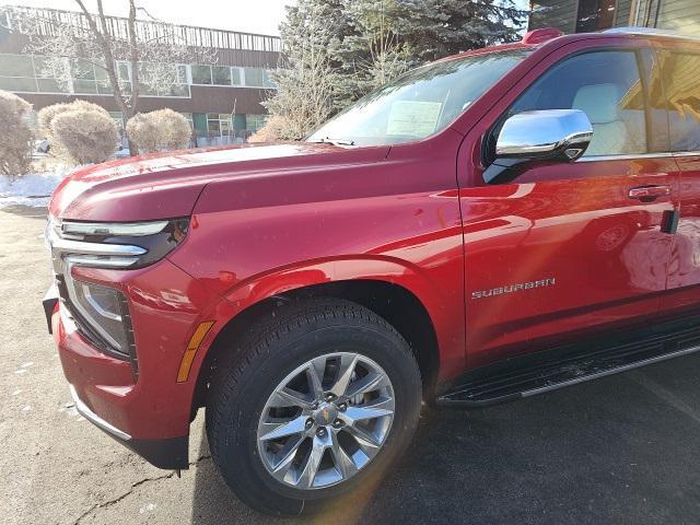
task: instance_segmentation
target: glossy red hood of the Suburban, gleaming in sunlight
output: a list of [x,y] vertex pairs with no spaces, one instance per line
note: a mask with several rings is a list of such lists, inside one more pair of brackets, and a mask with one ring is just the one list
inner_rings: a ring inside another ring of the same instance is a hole
[[129,222],[189,215],[207,184],[265,177],[304,168],[378,162],[388,147],[339,148],[289,142],[190,150],[113,161],[79,170],[56,189],[51,215],[79,221]]

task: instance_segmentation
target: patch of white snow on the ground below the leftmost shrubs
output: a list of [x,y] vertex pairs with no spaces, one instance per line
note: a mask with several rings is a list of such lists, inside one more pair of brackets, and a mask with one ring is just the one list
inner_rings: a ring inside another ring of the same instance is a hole
[[30,173],[13,180],[0,175],[0,208],[16,205],[48,206],[56,187],[73,170],[72,166],[56,166],[54,171]]

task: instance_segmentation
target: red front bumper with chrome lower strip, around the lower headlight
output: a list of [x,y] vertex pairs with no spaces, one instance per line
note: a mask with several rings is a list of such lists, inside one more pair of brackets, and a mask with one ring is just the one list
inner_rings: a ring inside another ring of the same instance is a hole
[[176,378],[191,332],[214,298],[167,259],[138,270],[80,268],[73,272],[118,288],[127,296],[139,353],[137,377],[127,359],[91,343],[66,305],[48,293],[44,304],[50,331],[77,410],[154,466],[187,468],[197,374],[184,383]]

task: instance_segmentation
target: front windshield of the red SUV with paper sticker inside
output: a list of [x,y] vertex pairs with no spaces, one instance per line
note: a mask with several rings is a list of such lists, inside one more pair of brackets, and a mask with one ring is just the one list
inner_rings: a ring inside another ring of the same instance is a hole
[[380,145],[423,139],[446,128],[529,52],[494,51],[415,69],[360,98],[307,141]]

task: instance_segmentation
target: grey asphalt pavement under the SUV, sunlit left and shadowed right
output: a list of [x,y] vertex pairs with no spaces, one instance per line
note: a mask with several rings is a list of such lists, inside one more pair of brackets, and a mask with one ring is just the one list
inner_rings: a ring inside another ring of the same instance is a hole
[[40,300],[42,209],[0,210],[0,522],[334,524],[700,523],[700,357],[483,409],[425,409],[398,467],[313,518],[240,503],[202,413],[177,479],[75,413]]

